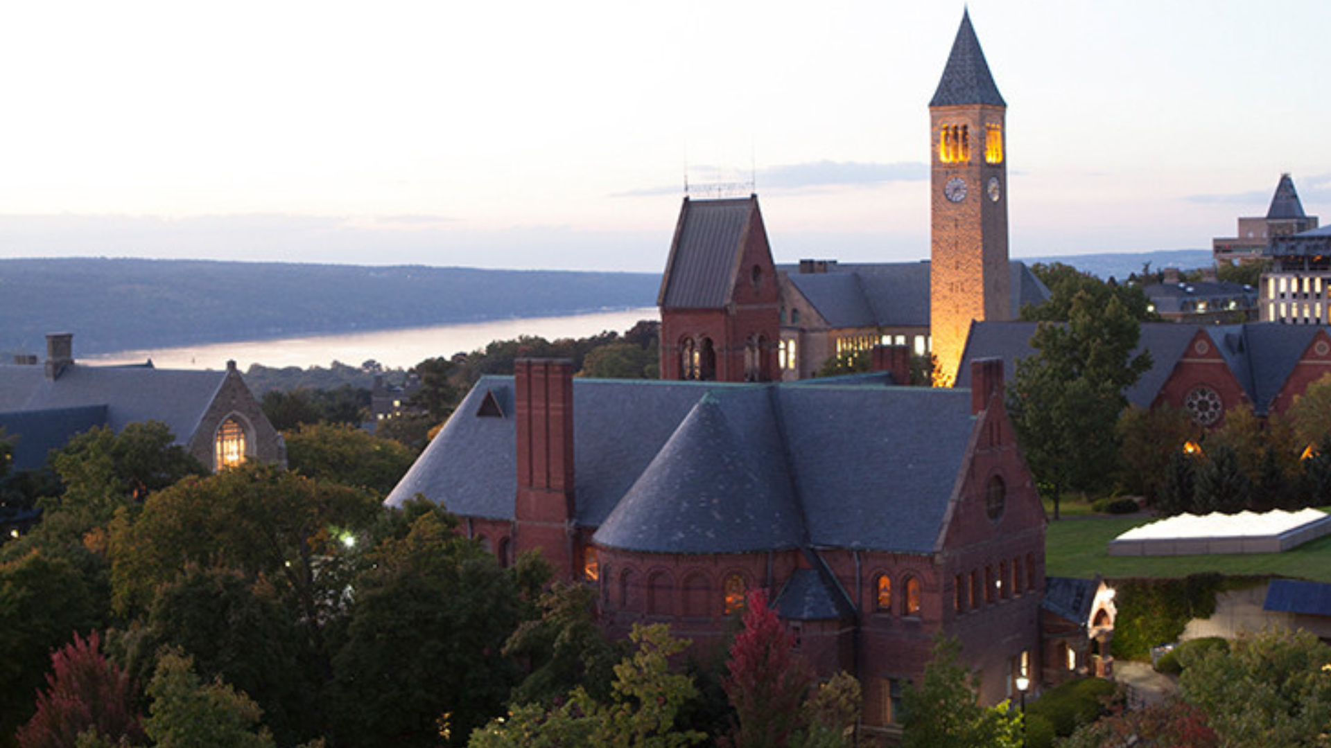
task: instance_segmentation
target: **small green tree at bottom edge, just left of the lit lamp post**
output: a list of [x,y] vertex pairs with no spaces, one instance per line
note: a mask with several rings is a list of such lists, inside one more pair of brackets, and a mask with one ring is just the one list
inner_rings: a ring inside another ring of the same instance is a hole
[[996,707],[976,703],[978,679],[957,655],[956,639],[938,638],[924,679],[904,693],[902,745],[905,748],[1017,748],[1021,716],[1004,701]]

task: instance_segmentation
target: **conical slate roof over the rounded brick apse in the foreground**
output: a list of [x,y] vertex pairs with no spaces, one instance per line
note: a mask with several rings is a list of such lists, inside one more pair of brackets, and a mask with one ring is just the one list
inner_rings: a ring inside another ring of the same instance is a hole
[[777,465],[779,455],[759,454],[752,439],[739,437],[708,393],[594,539],[599,546],[662,554],[797,547],[803,524]]

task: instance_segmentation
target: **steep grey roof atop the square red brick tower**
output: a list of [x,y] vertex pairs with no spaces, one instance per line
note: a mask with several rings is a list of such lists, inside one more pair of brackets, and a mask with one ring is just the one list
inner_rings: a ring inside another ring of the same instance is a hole
[[662,277],[662,309],[719,309],[735,287],[740,242],[757,198],[688,200]]

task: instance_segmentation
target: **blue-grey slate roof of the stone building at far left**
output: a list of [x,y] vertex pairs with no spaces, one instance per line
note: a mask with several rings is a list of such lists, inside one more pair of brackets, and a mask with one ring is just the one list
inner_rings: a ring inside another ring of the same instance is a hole
[[[105,407],[105,426],[161,421],[188,442],[226,381],[226,371],[71,365],[55,381],[45,366],[0,365],[0,413]],[[51,445],[60,446],[60,445]]]

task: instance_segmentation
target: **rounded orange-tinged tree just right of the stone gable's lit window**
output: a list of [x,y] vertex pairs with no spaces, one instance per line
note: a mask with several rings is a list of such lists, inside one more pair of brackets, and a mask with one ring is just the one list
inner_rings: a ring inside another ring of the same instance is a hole
[[287,466],[385,496],[415,462],[415,453],[393,441],[346,425],[309,425],[284,434]]

